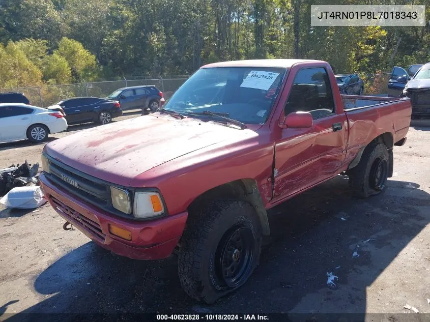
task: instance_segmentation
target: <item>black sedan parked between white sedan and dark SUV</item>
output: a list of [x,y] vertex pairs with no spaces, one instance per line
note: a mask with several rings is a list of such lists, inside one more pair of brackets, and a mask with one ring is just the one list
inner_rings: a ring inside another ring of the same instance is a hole
[[64,110],[68,124],[98,122],[107,124],[123,114],[118,101],[98,97],[75,97],[62,100],[48,108]]

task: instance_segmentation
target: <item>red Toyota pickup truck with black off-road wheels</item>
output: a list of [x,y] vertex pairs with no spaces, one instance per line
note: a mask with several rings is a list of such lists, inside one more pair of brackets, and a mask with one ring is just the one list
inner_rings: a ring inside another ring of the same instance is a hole
[[210,64],[160,112],[47,144],[40,183],[100,246],[177,253],[187,294],[212,303],[257,266],[266,210],[341,173],[382,192],[410,120],[409,98],[340,95],[326,62]]

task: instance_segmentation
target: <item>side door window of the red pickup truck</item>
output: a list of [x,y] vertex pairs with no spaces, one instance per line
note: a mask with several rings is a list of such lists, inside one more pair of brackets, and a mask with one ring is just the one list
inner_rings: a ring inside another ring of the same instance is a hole
[[334,113],[330,80],[324,68],[300,70],[294,78],[285,104],[285,115],[291,112],[310,112],[314,119]]

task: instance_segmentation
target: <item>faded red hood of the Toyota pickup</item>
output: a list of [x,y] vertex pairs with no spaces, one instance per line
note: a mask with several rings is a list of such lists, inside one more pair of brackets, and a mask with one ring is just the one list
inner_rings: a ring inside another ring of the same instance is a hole
[[83,130],[48,143],[44,151],[93,177],[128,186],[136,175],[157,165],[227,138],[240,140],[254,133],[157,114]]

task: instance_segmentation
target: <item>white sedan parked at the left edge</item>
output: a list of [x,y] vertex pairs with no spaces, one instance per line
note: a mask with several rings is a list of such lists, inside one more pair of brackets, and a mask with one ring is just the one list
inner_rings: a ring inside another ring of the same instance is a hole
[[66,129],[67,121],[59,111],[18,103],[0,104],[0,142],[42,142],[48,134]]

